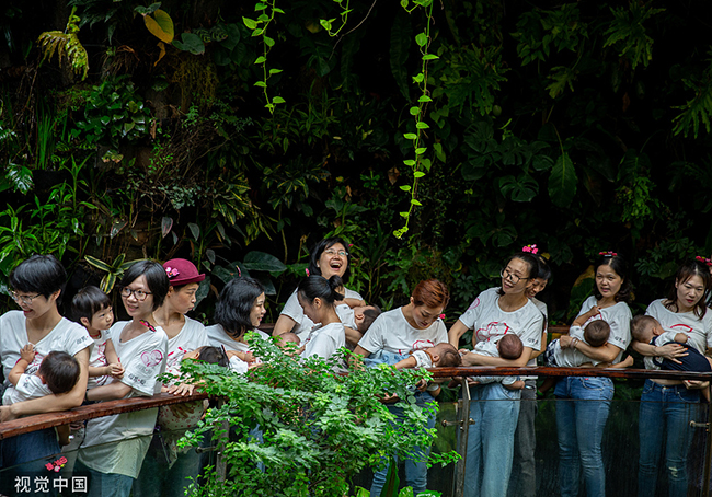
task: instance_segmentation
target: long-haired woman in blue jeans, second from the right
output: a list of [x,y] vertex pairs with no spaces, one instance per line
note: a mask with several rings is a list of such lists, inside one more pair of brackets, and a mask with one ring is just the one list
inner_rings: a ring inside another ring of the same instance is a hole
[[[631,311],[628,301],[631,284],[628,263],[615,252],[601,252],[594,264],[596,286],[578,315],[597,307],[599,313],[590,321],[604,320],[610,326],[608,343],[590,347],[584,340],[569,335],[560,338],[562,347],[572,347],[597,362],[621,361],[623,350],[631,343]],[[610,378],[567,377],[554,389],[556,396],[556,431],[559,432],[559,484],[562,497],[578,495],[583,482],[588,497],[606,495],[606,470],[601,453],[604,428],[608,419],[613,382]],[[597,401],[597,402],[594,402]]]

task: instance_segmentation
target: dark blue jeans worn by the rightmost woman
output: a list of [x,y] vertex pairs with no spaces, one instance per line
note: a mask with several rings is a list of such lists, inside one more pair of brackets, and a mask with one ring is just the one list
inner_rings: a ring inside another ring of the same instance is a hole
[[657,469],[665,446],[669,497],[687,495],[687,455],[690,451],[700,391],[685,385],[664,386],[645,380],[639,418],[641,441],[638,495],[655,495]]

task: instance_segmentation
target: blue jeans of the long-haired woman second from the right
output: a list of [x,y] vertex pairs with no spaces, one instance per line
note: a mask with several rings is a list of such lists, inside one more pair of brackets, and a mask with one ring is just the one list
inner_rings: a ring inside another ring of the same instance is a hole
[[577,497],[581,469],[587,497],[606,495],[601,453],[604,428],[613,398],[610,378],[562,378],[554,390],[562,497]]

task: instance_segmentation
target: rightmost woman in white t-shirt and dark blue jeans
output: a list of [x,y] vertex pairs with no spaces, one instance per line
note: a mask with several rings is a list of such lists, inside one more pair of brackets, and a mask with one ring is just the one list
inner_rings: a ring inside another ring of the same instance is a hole
[[[712,346],[712,312],[705,304],[712,279],[705,259],[700,259],[688,261],[680,266],[667,298],[651,303],[645,313],[657,321],[661,331],[684,333],[687,335],[686,345],[704,354],[705,348]],[[676,344],[656,347],[634,342],[633,348],[643,356],[662,356],[673,360],[685,355],[685,347]],[[652,361],[645,362],[646,368],[653,367]],[[645,380],[639,421],[639,496],[655,494],[663,446],[667,447],[665,467],[668,495],[687,495],[687,458],[693,434],[690,421],[698,413],[701,386],[700,382],[692,381]]]

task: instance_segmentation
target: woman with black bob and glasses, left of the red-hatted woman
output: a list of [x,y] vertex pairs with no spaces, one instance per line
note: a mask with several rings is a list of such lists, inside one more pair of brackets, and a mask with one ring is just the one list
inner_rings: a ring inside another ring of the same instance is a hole
[[[168,336],[153,312],[169,290],[165,269],[153,261],[130,266],[120,281],[120,296],[131,321],[108,330],[124,375],[87,392],[88,402],[151,396],[161,391],[158,377],[165,371]],[[128,496],[148,451],[158,408],[90,419],[79,449],[74,474],[89,476],[89,496]]]

